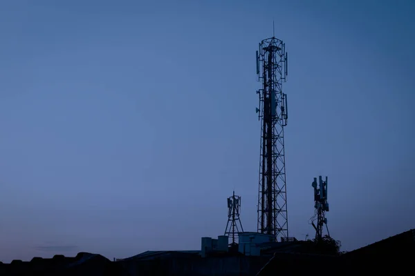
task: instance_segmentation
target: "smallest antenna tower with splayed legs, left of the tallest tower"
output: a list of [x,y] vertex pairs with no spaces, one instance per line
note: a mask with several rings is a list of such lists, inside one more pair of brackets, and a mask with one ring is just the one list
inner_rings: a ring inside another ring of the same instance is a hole
[[241,219],[239,219],[240,210],[241,197],[235,195],[234,191],[232,197],[228,197],[228,223],[225,229],[225,235],[232,238],[231,245],[237,244],[238,233],[243,232]]

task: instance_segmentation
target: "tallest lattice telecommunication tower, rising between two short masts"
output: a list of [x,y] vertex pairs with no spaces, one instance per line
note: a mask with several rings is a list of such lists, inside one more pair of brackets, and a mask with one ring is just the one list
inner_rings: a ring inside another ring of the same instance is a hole
[[288,75],[285,43],[275,37],[264,39],[257,50],[257,75],[261,81],[258,119],[261,121],[259,161],[259,233],[273,235],[277,242],[288,238],[284,126],[287,125],[287,96],[282,83]]

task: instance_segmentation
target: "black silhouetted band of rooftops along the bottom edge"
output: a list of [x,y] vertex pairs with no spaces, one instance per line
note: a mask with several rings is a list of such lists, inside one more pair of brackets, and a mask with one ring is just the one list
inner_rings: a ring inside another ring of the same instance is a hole
[[406,275],[412,270],[415,230],[348,253],[340,253],[338,241],[326,239],[325,242],[277,244],[261,257],[231,254],[202,258],[190,251],[149,251],[119,262],[111,262],[102,255],[92,253],[78,253],[75,257],[55,255],[50,259],[34,257],[30,262],[0,262],[0,275],[210,275],[207,271],[223,276],[369,275],[387,271],[394,275]]

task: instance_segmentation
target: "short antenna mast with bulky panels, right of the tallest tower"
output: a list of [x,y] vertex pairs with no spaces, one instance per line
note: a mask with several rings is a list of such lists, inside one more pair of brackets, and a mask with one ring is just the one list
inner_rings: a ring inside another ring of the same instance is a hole
[[[326,212],[329,212],[329,203],[327,202],[327,177],[326,181],[323,181],[322,176],[318,177],[318,186],[317,186],[317,177],[314,177],[313,184],[314,188],[314,208],[315,213],[311,218],[311,224],[315,229],[315,241],[318,242],[323,237],[323,226],[326,225],[327,235],[330,237],[329,227],[327,226]],[[314,221],[317,219],[317,225],[314,224]]]

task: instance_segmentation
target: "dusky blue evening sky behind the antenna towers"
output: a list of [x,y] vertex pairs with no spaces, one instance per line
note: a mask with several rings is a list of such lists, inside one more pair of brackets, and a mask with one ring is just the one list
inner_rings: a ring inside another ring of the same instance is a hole
[[412,1],[0,1],[0,261],[199,250],[257,230],[255,50],[289,53],[290,236],[415,228]]

